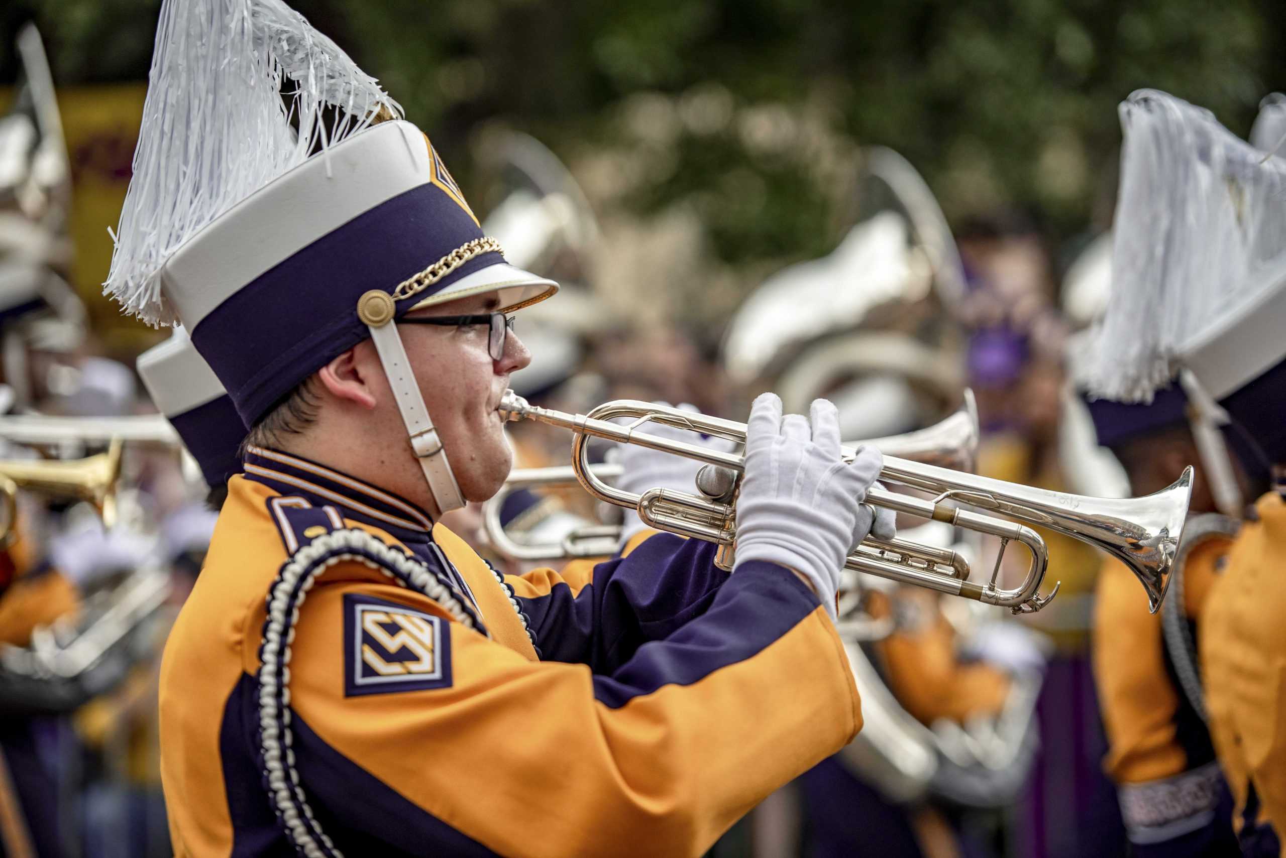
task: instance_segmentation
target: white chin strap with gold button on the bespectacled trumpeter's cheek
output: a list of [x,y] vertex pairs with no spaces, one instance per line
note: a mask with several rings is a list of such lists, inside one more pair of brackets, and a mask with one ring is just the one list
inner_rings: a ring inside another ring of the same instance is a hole
[[[363,301],[358,304],[358,312],[361,321],[367,322],[367,329],[370,330],[370,339],[376,343],[379,362],[383,363],[385,375],[388,376],[388,387],[397,397],[397,410],[401,411],[403,423],[406,424],[412,450],[424,471],[424,479],[428,482],[428,491],[433,493],[437,511],[458,510],[464,506],[464,497],[460,495],[459,483],[455,482],[455,474],[451,473],[451,466],[446,461],[446,450],[437,437],[437,429],[428,419],[428,408],[424,407],[424,398],[419,394],[415,374],[412,371],[410,361],[406,360],[406,349],[397,334],[397,325],[391,324],[394,302],[388,293],[377,293],[385,301],[368,298],[370,294],[363,295]],[[385,306],[386,302],[387,306]],[[385,317],[385,310],[387,310],[387,317]]]

